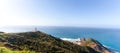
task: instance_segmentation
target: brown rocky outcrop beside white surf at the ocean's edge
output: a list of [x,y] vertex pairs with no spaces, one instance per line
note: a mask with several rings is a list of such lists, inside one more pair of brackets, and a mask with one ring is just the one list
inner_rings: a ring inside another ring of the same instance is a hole
[[104,47],[100,42],[92,38],[89,38],[89,39],[81,38],[80,41],[76,41],[75,44],[78,44],[80,46],[91,47],[101,53],[113,53],[112,51]]

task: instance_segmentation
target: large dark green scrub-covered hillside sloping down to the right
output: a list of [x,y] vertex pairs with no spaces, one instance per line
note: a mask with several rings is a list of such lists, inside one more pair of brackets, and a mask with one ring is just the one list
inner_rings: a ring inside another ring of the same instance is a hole
[[87,46],[75,45],[46,33],[24,32],[0,35],[0,44],[14,51],[35,51],[41,53],[98,53]]

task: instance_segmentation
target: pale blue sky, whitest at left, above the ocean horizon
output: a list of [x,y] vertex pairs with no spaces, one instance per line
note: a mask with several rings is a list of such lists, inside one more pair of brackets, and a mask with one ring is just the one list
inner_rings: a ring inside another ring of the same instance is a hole
[[120,28],[120,0],[0,0],[0,26]]

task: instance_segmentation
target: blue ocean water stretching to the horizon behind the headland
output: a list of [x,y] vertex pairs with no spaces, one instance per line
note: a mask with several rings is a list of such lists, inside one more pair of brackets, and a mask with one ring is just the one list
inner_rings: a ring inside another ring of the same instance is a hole
[[[35,27],[2,27],[4,32],[26,32]],[[39,27],[37,29],[58,38],[94,38],[114,50],[120,51],[120,29],[83,28],[83,27]]]

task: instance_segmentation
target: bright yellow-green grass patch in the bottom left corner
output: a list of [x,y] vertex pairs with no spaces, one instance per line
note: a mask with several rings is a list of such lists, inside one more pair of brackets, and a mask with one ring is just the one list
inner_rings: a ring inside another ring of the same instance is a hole
[[13,51],[5,47],[0,47],[0,53],[35,53],[34,51]]

